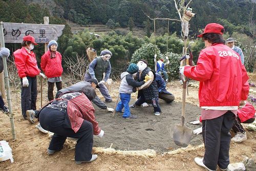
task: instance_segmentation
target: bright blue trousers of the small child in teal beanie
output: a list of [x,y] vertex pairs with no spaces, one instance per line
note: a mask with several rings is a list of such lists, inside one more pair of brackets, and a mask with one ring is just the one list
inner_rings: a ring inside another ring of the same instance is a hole
[[124,108],[123,112],[123,118],[129,117],[131,115],[130,108],[129,108],[129,102],[131,100],[131,94],[125,94],[120,93],[120,99],[119,103],[116,106],[116,111],[121,112]]

